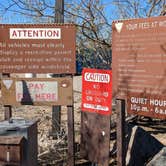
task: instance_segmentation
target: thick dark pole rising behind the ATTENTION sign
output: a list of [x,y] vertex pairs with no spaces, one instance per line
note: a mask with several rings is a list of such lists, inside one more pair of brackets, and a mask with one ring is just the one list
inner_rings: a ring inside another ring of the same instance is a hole
[[[64,23],[64,0],[56,0],[55,3],[55,23]],[[61,106],[52,106],[52,135],[60,131]]]

